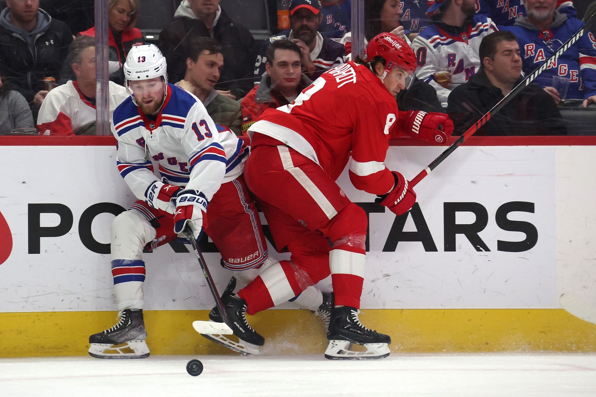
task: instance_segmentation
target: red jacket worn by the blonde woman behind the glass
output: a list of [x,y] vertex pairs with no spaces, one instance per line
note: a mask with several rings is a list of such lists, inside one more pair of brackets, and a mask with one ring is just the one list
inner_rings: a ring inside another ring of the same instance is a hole
[[[81,36],[95,37],[95,27],[80,32]],[[114,35],[108,29],[108,69],[110,70],[110,80],[116,84],[124,85],[124,71],[122,65],[126,61],[126,55],[131,51],[132,46],[144,44],[145,40],[140,30],[134,27],[121,34]],[[74,77],[74,76],[73,76]],[[75,79],[70,79],[75,80]]]

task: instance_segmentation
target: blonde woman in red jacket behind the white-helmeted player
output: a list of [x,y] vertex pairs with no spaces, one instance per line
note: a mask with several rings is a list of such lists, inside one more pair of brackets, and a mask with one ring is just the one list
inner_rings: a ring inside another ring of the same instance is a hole
[[[110,81],[124,84],[122,65],[135,45],[144,44],[143,35],[136,29],[141,4],[139,0],[108,0],[108,70]],[[95,27],[80,35],[95,37]]]

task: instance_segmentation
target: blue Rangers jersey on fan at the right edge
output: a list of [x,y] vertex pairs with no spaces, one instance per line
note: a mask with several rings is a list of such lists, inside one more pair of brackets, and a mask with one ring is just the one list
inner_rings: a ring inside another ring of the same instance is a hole
[[[502,26],[501,30],[509,30],[517,36],[522,56],[522,68],[525,74],[532,73],[575,35],[584,23],[577,18],[568,18],[555,11],[555,21],[550,29],[540,30],[520,18],[514,26]],[[557,60],[533,81],[542,87],[552,86],[552,77],[569,78],[567,98],[586,99],[596,95],[596,37],[586,32],[572,46],[563,52]]]

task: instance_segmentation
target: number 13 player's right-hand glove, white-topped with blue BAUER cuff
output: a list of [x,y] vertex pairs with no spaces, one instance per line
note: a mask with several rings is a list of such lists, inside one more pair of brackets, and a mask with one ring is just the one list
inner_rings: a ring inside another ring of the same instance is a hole
[[198,190],[185,189],[176,197],[174,212],[174,233],[186,239],[185,229],[188,226],[193,238],[198,240],[204,227],[207,227],[207,198]]

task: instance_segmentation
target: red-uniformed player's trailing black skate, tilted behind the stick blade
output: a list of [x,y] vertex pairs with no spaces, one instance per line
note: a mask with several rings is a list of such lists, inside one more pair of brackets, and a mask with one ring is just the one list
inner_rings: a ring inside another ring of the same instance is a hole
[[[246,301],[234,295],[235,287],[236,279],[232,277],[222,295],[222,303],[226,314],[228,314],[229,326],[234,331],[234,335],[238,337],[238,342],[229,339],[226,335],[206,333],[201,333],[201,335],[243,355],[257,355],[259,346],[265,344],[265,338],[260,336],[246,321]],[[217,307],[209,312],[209,320],[215,323],[224,322]]]

